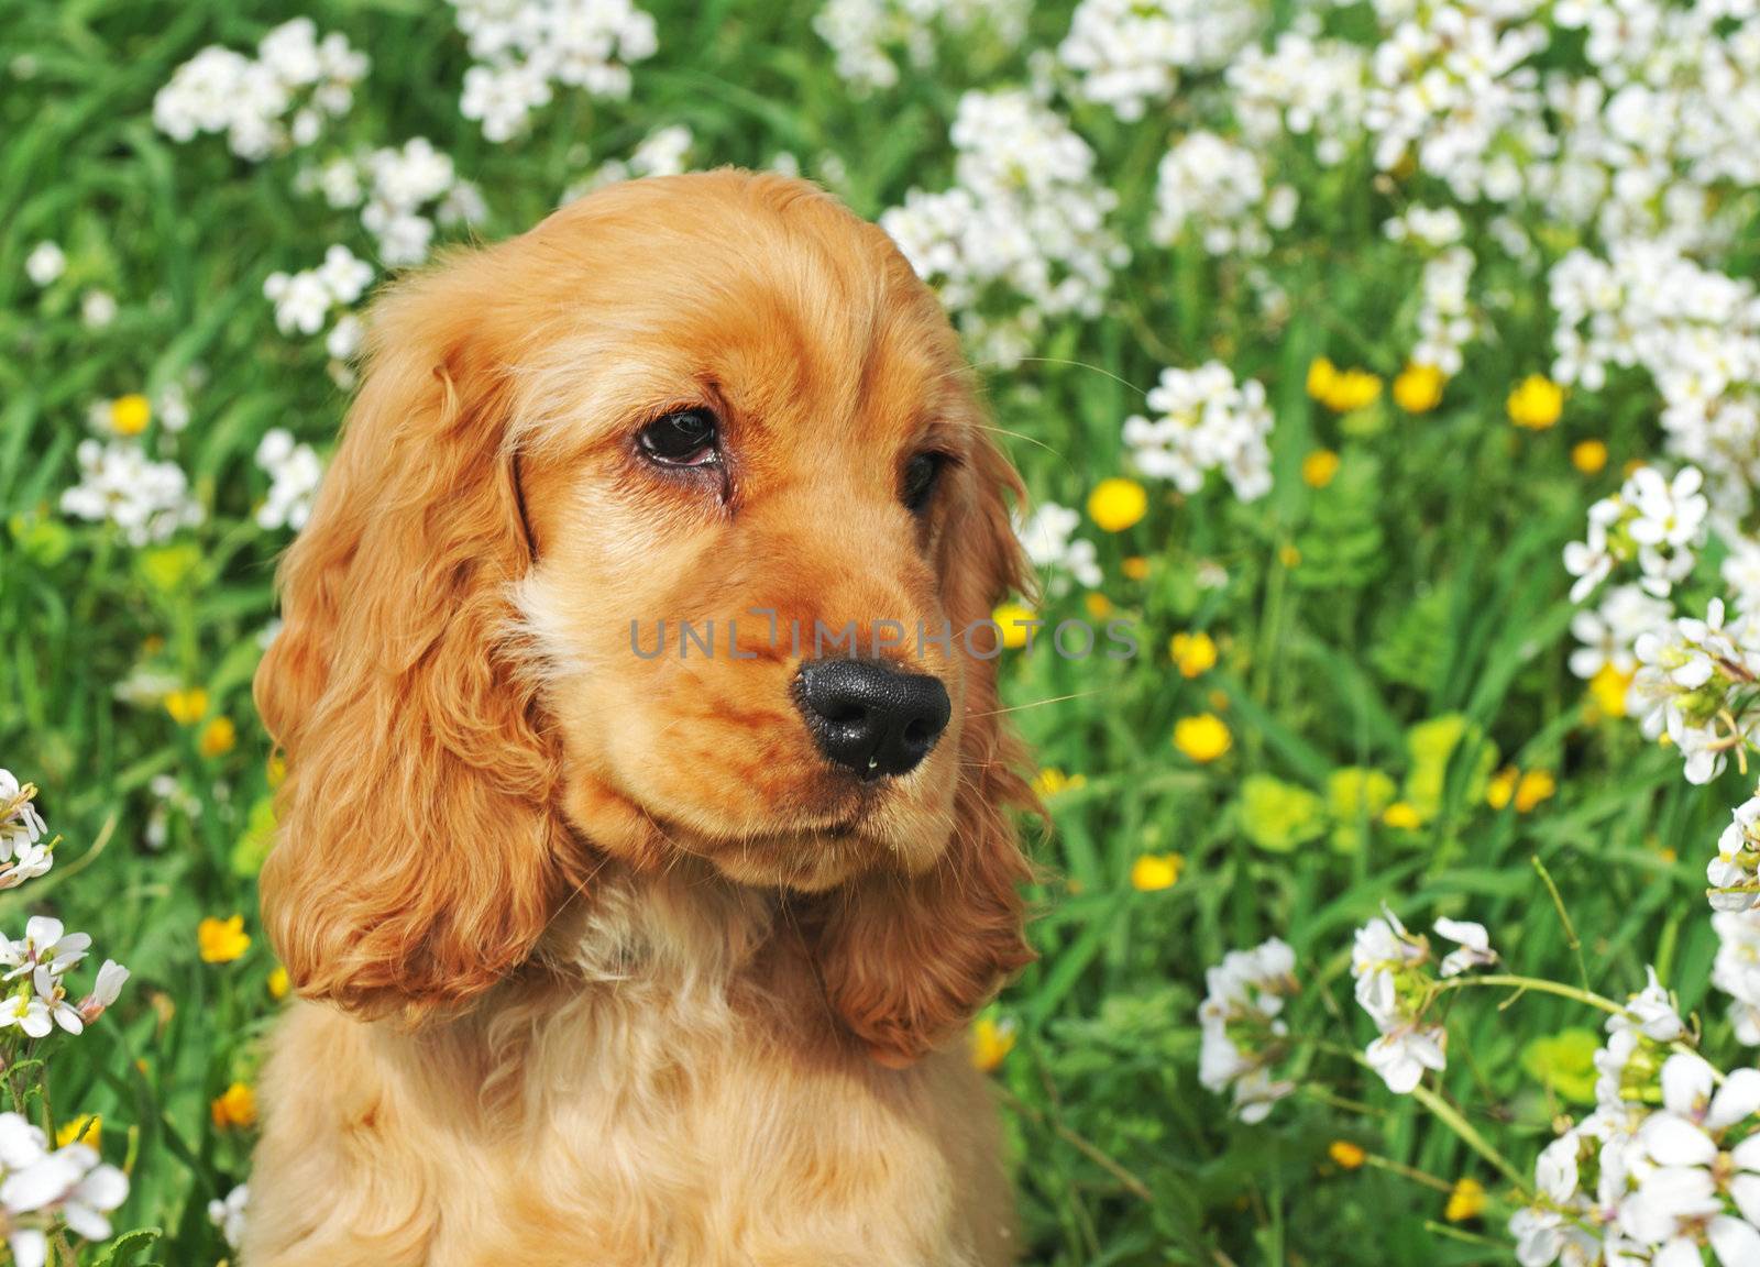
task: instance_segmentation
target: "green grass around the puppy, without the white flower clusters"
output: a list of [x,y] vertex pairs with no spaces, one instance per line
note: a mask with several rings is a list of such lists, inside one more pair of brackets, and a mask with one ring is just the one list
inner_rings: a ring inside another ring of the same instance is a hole
[[[766,165],[787,150],[813,174],[820,155],[841,155],[845,197],[878,215],[910,185],[945,185],[963,88],[1024,76],[1019,55],[979,51],[862,102],[810,30],[813,4],[651,9],[662,51],[637,69],[630,102],[565,93],[530,137],[493,146],[458,116],[466,56],[444,5],[301,7],[373,56],[347,134],[377,144],[428,135],[451,151],[488,195],[484,238],[535,222],[570,181],[665,123],[690,125],[699,164]],[[290,160],[252,167],[213,137],[172,144],[151,125],[151,99],[199,48],[248,48],[287,16],[287,5],[238,0],[0,0],[0,764],[42,787],[44,813],[67,838],[49,876],[0,896],[0,929],[53,908],[134,970],[93,1033],[53,1042],[53,1114],[102,1114],[104,1153],[134,1181],[118,1227],[160,1228],[137,1258],[164,1263],[225,1255],[204,1205],[245,1179],[252,1140],[216,1130],[209,1102],[250,1082],[276,1012],[253,878],[268,741],[248,685],[287,535],[250,521],[266,489],[252,452],[269,426],[326,450],[345,406],[315,341],[275,331],[262,278],[317,264],[331,241],[366,248],[352,213],[292,192]],[[1054,44],[1067,23],[1068,5],[1035,9],[1030,42]],[[1633,387],[1609,392],[1605,410],[1566,410],[1552,431],[1512,429],[1503,396],[1545,368],[1549,340],[1544,294],[1512,275],[1498,338],[1473,350],[1440,410],[1408,417],[1383,399],[1341,422],[1304,396],[1308,361],[1325,352],[1396,373],[1417,282],[1413,260],[1378,236],[1397,204],[1373,190],[1366,160],[1322,176],[1288,157],[1287,178],[1315,194],[1276,260],[1294,313],[1280,326],[1257,313],[1236,269],[1144,238],[1170,120],[1128,127],[1081,107],[1074,121],[1119,192],[1135,262],[1104,319],[1052,327],[1044,359],[993,377],[1028,484],[1081,505],[1102,477],[1126,472],[1119,424],[1160,368],[1220,355],[1271,391],[1276,491],[1243,507],[1155,486],[1130,530],[1086,524],[1104,593],[1137,621],[1144,655],[1007,667],[1037,760],[1084,780],[1051,799],[1040,961],[998,1003],[1017,1024],[996,1079],[1030,1258],[1503,1262],[1496,1202],[1464,1237],[1443,1235],[1431,1228],[1441,1193],[1327,1160],[1327,1146],[1348,1139],[1447,1183],[1477,1175],[1496,1197],[1498,1175],[1454,1133],[1311,1051],[1304,1093],[1269,1124],[1239,1126],[1197,1084],[1195,1007],[1206,964],[1276,933],[1302,964],[1304,1028],[1360,1047],[1371,1029],[1350,998],[1346,950],[1383,899],[1413,926],[1438,913],[1484,920],[1514,970],[1573,980],[1577,957],[1536,859],[1600,989],[1637,989],[1654,961],[1683,1005],[1704,1003],[1716,943],[1702,866],[1739,780],[1686,787],[1677,758],[1630,723],[1588,721],[1565,669],[1559,549],[1617,468],[1658,449],[1654,406]],[[44,238],[63,245],[69,273],[39,296],[23,260]],[[120,301],[106,331],[79,320],[88,287]],[[76,480],[90,403],[153,394],[192,368],[202,382],[176,456],[206,524],[136,551],[62,519],[56,498]],[[1603,475],[1568,461],[1570,443],[1589,436],[1612,450]],[[1320,445],[1343,466],[1316,491],[1299,466]],[[1126,558],[1148,560],[1144,579],[1126,577]],[[1197,584],[1206,560],[1227,568],[1225,588]],[[1081,614],[1081,597],[1054,609]],[[1221,662],[1188,681],[1165,648],[1193,628],[1216,637]],[[238,746],[204,757],[197,727],[120,700],[118,683],[143,669],[206,688],[209,714],[236,721]],[[1170,744],[1174,723],[1202,711],[1220,711],[1234,734],[1209,765]],[[1362,765],[1399,783],[1413,764],[1406,730],[1443,714],[1480,727],[1500,764],[1554,771],[1558,795],[1533,813],[1494,811],[1456,760],[1422,831],[1369,822],[1355,852],[1325,838],[1290,852],[1250,841],[1237,795],[1248,774],[1324,792],[1334,769]],[[197,808],[169,815],[162,846],[146,839],[157,776]],[[1179,882],[1132,889],[1133,861],[1169,850],[1184,855]],[[197,922],[231,913],[257,933],[252,950],[202,964]],[[1720,1015],[1707,1012],[1714,1033]],[[1598,1017],[1540,996],[1508,1010],[1463,996],[1450,1017],[1441,1086],[1524,1170],[1558,1105],[1522,1072],[1522,1054],[1568,1026],[1598,1028]]]

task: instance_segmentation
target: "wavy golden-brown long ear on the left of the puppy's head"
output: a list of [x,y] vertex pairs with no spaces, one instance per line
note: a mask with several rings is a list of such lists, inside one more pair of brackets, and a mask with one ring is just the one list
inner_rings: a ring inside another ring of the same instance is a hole
[[482,267],[377,304],[255,679],[287,757],[264,924],[301,994],[366,1014],[470,1000],[526,959],[563,883],[556,755],[509,634],[532,560]]

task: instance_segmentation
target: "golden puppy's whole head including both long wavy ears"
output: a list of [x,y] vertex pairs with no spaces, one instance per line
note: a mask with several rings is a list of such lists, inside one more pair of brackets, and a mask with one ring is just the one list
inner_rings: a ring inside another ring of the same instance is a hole
[[1024,963],[987,612],[1021,581],[947,320],[799,181],[620,185],[375,308],[257,702],[301,991],[458,1005],[597,857],[801,904],[882,1059]]

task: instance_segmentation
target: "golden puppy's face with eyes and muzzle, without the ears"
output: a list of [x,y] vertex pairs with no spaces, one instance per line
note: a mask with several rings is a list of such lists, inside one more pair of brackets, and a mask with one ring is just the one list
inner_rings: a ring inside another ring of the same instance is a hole
[[658,260],[607,253],[535,371],[553,443],[521,466],[519,607],[588,839],[824,889],[922,871],[952,834],[954,574],[991,549],[973,502],[996,472],[891,245],[831,204],[794,215],[806,248],[785,218],[741,239],[706,215]]

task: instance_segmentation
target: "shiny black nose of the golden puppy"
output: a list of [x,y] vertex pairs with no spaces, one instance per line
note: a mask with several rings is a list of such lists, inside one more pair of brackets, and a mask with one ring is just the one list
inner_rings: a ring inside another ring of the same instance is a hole
[[913,769],[952,713],[940,677],[880,660],[813,660],[796,677],[796,702],[818,751],[864,780]]

